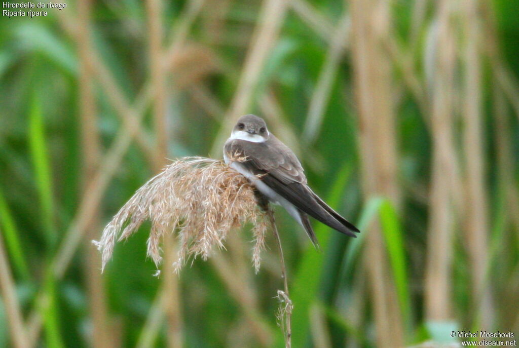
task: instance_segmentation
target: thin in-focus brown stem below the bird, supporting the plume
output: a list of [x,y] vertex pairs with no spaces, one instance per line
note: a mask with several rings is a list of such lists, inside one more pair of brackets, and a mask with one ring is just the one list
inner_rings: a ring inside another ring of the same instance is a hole
[[289,283],[288,278],[286,277],[285,258],[283,256],[283,247],[281,246],[281,239],[279,238],[278,228],[276,227],[274,212],[270,207],[267,208],[267,215],[270,220],[270,225],[272,226],[272,233],[274,233],[274,237],[276,238],[276,243],[278,244],[279,248],[281,277],[283,279],[284,295],[286,295],[286,297],[281,298],[278,291],[278,298],[280,300],[279,321],[284,334],[285,348],[290,348],[292,346],[292,301],[290,301]]

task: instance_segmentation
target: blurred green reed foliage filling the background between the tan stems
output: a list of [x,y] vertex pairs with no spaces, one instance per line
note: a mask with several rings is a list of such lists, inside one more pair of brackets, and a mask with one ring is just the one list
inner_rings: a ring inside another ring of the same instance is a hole
[[[347,11],[342,2],[308,3],[333,25],[338,22],[340,13]],[[395,35],[401,41],[405,41],[412,30],[413,3],[405,0],[392,5],[397,28]],[[519,78],[518,2],[495,0],[491,4],[496,8],[498,36],[506,62],[514,74],[512,77]],[[213,5],[204,5],[207,8],[202,9],[188,34],[188,44],[205,50],[202,53],[209,56],[213,66],[198,74],[196,67],[185,63],[174,71],[168,82],[171,158],[209,154],[214,135],[222,126],[223,112],[233,98],[260,2],[229,1],[227,11],[216,20],[211,16]],[[62,11],[63,15],[76,11],[76,6],[70,4],[70,8]],[[171,28],[181,20],[186,6],[182,1],[164,2],[161,16],[167,38],[171,36]],[[426,35],[433,16],[434,5],[427,2],[427,6],[419,36]],[[44,18],[1,17],[0,20],[0,227],[25,318],[38,307],[35,303],[38,291],[45,289],[48,294],[47,307],[41,310],[44,332],[38,346],[85,347],[90,345],[92,331],[86,277],[89,265],[85,255],[85,250],[92,247],[90,242],[83,240],[62,279],[56,279],[50,271],[51,260],[78,212],[83,185],[88,179],[81,174],[84,158],[78,116],[77,49],[81,43],[66,34],[56,11],[49,12],[49,17]],[[211,21],[220,21],[221,26]],[[144,4],[138,0],[94,2],[91,28],[99,58],[125,98],[134,100],[148,77]],[[421,41],[420,45],[423,44]],[[296,136],[303,131],[327,47],[320,35],[294,11],[289,11],[254,91],[255,96],[265,92],[276,96],[282,112],[280,117],[288,124],[283,127]],[[421,54],[417,57],[417,71],[421,72]],[[202,64],[195,58],[193,61],[195,65]],[[428,215],[427,201],[420,194],[426,192],[429,185],[431,139],[424,115],[420,114],[413,96],[403,92],[397,112],[403,206],[397,210],[384,198],[363,200],[351,69],[349,56],[344,54],[334,76],[318,139],[314,143],[300,144],[300,154],[305,155],[302,160],[311,187],[348,219],[358,222],[364,233],[357,240],[348,240],[316,223],[321,245],[321,250],[316,250],[302,229],[285,212],[277,210],[295,306],[293,346],[311,346],[311,318],[307,314],[315,305],[326,317],[333,346],[347,346],[344,342],[353,338],[358,340],[359,346],[375,346],[373,304],[368,301],[367,294],[361,303],[353,303],[358,301],[353,297],[358,293],[355,287],[360,287],[361,293],[367,289],[356,270],[363,268],[357,266],[362,263],[362,243],[370,233],[368,226],[374,217],[381,219],[399,305],[407,326],[407,343],[429,338],[441,340],[453,327],[467,328],[472,323],[468,300],[471,289],[467,255],[463,252],[465,242],[457,236],[454,243],[459,253],[455,253],[453,260],[456,322],[447,323],[447,326],[425,322],[422,284]],[[485,166],[491,205],[488,278],[495,285],[496,329],[505,331],[517,329],[517,302],[510,301],[518,300],[519,238],[517,226],[514,229],[506,222],[510,207],[504,198],[507,188],[500,187],[496,172],[494,143],[499,134],[493,133],[490,111],[492,72],[485,67],[484,75]],[[396,68],[395,79],[401,79]],[[210,91],[216,109],[220,108],[220,115],[211,115],[193,96],[193,89],[200,86]],[[122,123],[98,83],[95,83],[94,94],[96,122],[104,151],[110,147]],[[262,115],[260,103],[261,99],[253,103],[250,112]],[[147,108],[144,124],[147,135],[153,138],[151,114],[152,110]],[[515,155],[510,171],[515,183],[519,179],[517,120],[517,117],[509,118]],[[152,175],[153,169],[145,152],[138,145],[131,145],[103,196],[101,224],[105,224]],[[102,226],[99,226],[98,235],[101,230]],[[148,230],[149,226],[144,226],[127,243],[117,245],[113,260],[103,274],[110,317],[110,323],[105,324],[114,328],[111,329],[114,336],[120,336],[121,346],[135,346],[139,340],[161,283],[153,277],[155,266],[145,256]],[[246,247],[244,259],[249,262],[248,241],[252,237],[247,229],[238,233],[242,234],[239,239],[246,242],[243,243]],[[281,288],[273,242],[269,236],[269,250],[265,253],[262,270],[253,275],[251,266],[248,279],[255,289],[263,318],[268,321],[267,330],[274,337],[275,346],[282,346],[281,332],[276,328],[277,303],[272,298]],[[231,255],[229,259],[235,257],[240,258]],[[242,346],[258,345],[247,332],[239,304],[211,263],[197,259],[182,271],[179,279],[182,301],[178,305],[182,309],[186,347],[240,346],[236,343],[240,342],[240,337],[245,342]],[[511,308],[507,308],[505,301]],[[353,305],[364,313],[361,323],[350,322],[345,314]],[[9,346],[8,318],[3,309],[0,310],[0,346]],[[167,330],[162,325],[156,346],[166,346],[166,341]]]

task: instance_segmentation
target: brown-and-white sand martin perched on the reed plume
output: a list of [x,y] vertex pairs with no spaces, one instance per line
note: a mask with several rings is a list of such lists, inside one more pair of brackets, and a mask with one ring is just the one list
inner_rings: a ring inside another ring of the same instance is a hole
[[[229,161],[242,157],[244,161]],[[324,203],[307,185],[294,152],[272,135],[265,121],[255,115],[240,117],[224,146],[224,160],[247,177],[267,199],[282,205],[318,245],[308,215],[323,224],[355,237],[359,232],[344,217]],[[230,163],[229,163],[230,162]]]

